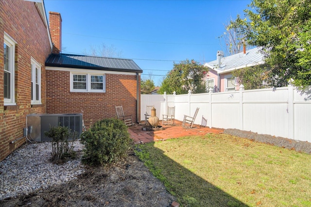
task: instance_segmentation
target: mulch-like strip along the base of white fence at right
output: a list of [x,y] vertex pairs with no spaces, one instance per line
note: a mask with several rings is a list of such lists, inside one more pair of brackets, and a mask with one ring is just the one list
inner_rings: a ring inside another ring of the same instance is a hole
[[261,135],[254,132],[242,131],[239,129],[225,129],[224,134],[234,135],[241,138],[248,138],[254,141],[273,144],[297,152],[305,152],[311,154],[311,143],[307,141],[296,141],[294,139],[275,137],[271,135]]

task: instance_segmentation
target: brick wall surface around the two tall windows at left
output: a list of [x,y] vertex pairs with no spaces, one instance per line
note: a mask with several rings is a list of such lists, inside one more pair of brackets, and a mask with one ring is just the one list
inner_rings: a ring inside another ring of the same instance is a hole
[[[0,0],[0,161],[19,147],[25,139],[10,142],[23,136],[26,115],[45,113],[45,60],[51,53],[47,25],[34,2]],[[3,41],[4,32],[17,42],[15,52],[14,106],[3,103]],[[41,64],[41,105],[31,105],[31,57]]]

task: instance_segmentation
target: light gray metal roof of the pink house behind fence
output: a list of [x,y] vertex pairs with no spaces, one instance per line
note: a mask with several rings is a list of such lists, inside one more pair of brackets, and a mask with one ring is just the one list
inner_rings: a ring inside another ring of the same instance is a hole
[[247,50],[245,54],[243,52],[239,52],[227,57],[222,57],[220,67],[218,66],[218,60],[205,63],[204,66],[207,66],[210,69],[214,69],[218,73],[225,73],[231,70],[242,69],[263,63],[264,56],[261,54],[260,49],[253,48]]

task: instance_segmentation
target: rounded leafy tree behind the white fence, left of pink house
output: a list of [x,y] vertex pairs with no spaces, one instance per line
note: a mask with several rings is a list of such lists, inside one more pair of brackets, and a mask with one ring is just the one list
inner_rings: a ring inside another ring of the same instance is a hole
[[192,93],[206,92],[206,84],[203,78],[208,69],[194,60],[184,60],[180,63],[174,63],[173,69],[163,79],[159,93],[166,91],[172,94],[187,94],[188,90]]

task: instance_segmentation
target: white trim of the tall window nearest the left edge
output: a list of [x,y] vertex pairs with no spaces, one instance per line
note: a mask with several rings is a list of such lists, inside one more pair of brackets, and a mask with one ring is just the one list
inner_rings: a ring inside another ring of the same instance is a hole
[[[15,45],[16,41],[13,40],[8,34],[4,32],[4,44],[10,47],[10,72],[11,72],[11,90],[10,99],[4,98],[4,105],[16,105],[15,103]],[[4,71],[3,71],[4,72]]]

